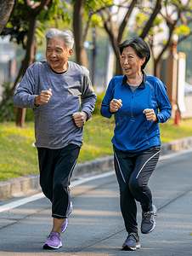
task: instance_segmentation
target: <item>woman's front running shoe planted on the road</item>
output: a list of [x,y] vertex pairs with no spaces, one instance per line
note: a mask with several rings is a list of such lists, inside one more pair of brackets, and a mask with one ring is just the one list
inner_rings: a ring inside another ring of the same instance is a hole
[[139,236],[135,233],[130,233],[127,236],[126,241],[124,241],[122,245],[122,250],[124,251],[135,251],[136,249],[140,248],[141,245],[139,243]]

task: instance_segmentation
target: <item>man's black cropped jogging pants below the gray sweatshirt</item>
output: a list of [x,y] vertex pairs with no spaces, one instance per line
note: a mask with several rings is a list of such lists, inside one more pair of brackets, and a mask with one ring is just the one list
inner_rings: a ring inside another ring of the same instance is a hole
[[69,144],[65,148],[37,148],[40,185],[43,194],[52,202],[52,217],[66,218],[70,213],[70,179],[80,148]]

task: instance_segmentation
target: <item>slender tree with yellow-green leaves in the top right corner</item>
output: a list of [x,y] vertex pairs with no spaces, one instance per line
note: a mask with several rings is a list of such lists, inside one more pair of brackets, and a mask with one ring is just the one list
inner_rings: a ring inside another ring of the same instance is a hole
[[[152,51],[152,56],[154,59],[154,75],[160,78],[160,67],[161,60],[166,52],[166,50],[172,46],[173,44],[173,35],[178,34],[180,38],[178,39],[178,44],[184,41],[186,38],[192,34],[189,29],[189,23],[191,23],[191,12],[192,6],[191,1],[188,0],[185,4],[182,1],[174,1],[174,0],[165,0],[163,1],[163,8],[159,12],[158,17],[155,18],[154,26],[150,29],[150,46]],[[162,26],[164,24],[164,26]],[[166,27],[168,30],[167,40],[162,37],[161,42],[161,51],[158,55],[155,54],[155,35],[163,32],[163,28]]]

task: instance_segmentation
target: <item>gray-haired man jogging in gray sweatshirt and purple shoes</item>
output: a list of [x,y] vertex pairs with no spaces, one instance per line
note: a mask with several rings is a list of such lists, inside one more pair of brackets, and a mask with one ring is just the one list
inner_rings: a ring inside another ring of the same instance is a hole
[[71,31],[51,28],[45,38],[47,61],[26,70],[14,105],[34,112],[40,184],[52,202],[53,217],[43,248],[56,249],[62,246],[60,233],[72,211],[69,185],[82,147],[82,126],[90,119],[97,96],[88,69],[68,61],[74,44]]

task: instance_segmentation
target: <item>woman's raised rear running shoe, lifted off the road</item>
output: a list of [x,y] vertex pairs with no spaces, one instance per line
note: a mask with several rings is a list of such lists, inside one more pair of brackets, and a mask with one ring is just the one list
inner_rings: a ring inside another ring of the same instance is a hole
[[142,221],[141,221],[141,233],[148,234],[151,231],[155,230],[155,218],[157,209],[153,205],[153,210],[150,212],[142,212]]

